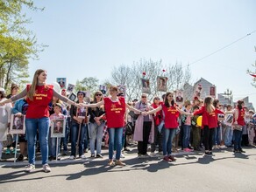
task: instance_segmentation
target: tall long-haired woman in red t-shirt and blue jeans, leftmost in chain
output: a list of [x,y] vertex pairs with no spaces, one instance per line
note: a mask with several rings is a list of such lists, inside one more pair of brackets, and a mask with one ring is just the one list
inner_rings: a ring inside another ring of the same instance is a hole
[[27,85],[24,91],[11,97],[11,99],[0,102],[0,106],[2,106],[5,103],[10,103],[27,96],[26,101],[29,106],[26,112],[25,127],[28,142],[29,165],[25,168],[25,172],[32,172],[35,169],[35,145],[38,131],[43,170],[46,173],[51,171],[51,168],[47,163],[49,151],[48,133],[50,127],[48,104],[53,99],[53,96],[64,102],[68,102],[70,105],[75,105],[74,101],[63,97],[60,93],[54,91],[52,85],[46,85],[46,79],[47,72],[39,69],[34,73],[32,84]]

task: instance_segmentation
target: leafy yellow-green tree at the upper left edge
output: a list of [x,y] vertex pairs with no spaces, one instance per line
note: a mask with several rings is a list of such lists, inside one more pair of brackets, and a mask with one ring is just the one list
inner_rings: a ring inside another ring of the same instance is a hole
[[22,85],[28,78],[29,58],[38,59],[45,45],[38,45],[32,31],[25,28],[31,20],[22,9],[43,10],[30,0],[0,0],[0,86]]

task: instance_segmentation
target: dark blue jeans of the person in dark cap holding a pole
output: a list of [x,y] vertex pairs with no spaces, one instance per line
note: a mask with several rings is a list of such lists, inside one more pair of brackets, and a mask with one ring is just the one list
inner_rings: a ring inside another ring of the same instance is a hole
[[[79,132],[79,124],[76,122],[72,122],[71,127],[71,155],[75,156],[76,153],[76,142],[78,140],[78,132]],[[83,154],[83,144],[84,144],[84,132],[85,132],[86,125],[81,125],[81,131],[80,131],[80,138],[79,138],[79,156]]]

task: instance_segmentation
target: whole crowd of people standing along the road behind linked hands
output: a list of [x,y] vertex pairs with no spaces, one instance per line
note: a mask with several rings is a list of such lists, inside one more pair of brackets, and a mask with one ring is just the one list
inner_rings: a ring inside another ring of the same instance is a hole
[[[154,97],[152,103],[146,93],[126,102],[117,86],[110,86],[110,95],[97,91],[91,100],[79,91],[75,102],[65,92],[60,94],[47,85],[46,77],[45,70],[37,70],[31,85],[20,93],[18,86],[12,85],[8,98],[0,89],[0,159],[4,147],[5,154],[11,154],[17,146],[16,139],[4,146],[11,113],[17,117],[14,121],[18,127],[23,126],[18,117],[25,115],[25,134],[18,134],[17,159],[28,157],[25,172],[35,169],[36,151],[41,153],[43,170],[50,172],[48,161],[60,159],[62,148],[61,155],[68,155],[68,141],[70,160],[86,158],[88,150],[90,158],[103,158],[104,141],[109,147],[108,165],[122,167],[122,149],[129,150],[131,140],[137,144],[138,158],[162,156],[163,161],[176,161],[173,153],[178,152],[178,147],[184,152],[203,151],[205,156],[212,156],[214,147],[233,147],[234,153],[245,153],[242,146],[255,144],[256,116],[247,110],[243,100],[233,107],[223,106],[211,97],[195,97],[191,101],[182,99],[182,105],[178,105],[174,99],[178,96],[167,92],[161,98]],[[61,139],[54,134],[61,134]]]

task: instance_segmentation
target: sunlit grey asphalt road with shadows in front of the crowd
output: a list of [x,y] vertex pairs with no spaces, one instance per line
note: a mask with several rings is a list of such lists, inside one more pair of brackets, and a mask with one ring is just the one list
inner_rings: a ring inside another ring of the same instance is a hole
[[107,150],[103,160],[50,161],[47,174],[40,161],[30,174],[24,172],[27,161],[2,161],[0,191],[256,191],[256,148],[235,155],[227,148],[213,157],[180,152],[175,162],[138,159],[132,149],[124,168],[107,165]]

